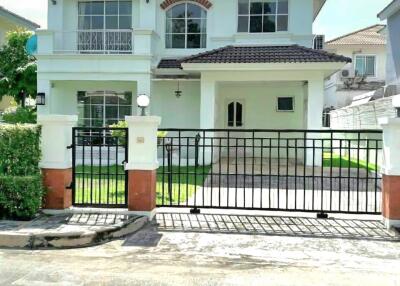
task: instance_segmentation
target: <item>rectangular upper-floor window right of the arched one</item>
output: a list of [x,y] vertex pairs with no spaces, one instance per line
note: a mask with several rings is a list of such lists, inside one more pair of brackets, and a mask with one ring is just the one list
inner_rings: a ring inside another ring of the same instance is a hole
[[238,1],[238,32],[272,33],[288,30],[288,0]]

